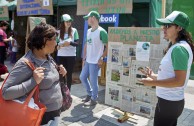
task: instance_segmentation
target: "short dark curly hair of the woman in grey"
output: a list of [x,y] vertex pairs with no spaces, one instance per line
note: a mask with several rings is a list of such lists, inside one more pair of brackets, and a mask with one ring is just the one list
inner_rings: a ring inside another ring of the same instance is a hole
[[41,22],[30,33],[27,39],[28,48],[32,51],[34,49],[41,50],[45,47],[46,41],[56,36],[56,33],[56,29],[53,26]]

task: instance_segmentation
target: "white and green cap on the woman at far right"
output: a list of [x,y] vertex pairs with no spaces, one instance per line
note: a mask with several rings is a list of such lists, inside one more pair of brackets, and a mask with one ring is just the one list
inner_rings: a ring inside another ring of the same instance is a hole
[[187,29],[189,26],[189,17],[181,11],[173,11],[166,18],[156,19],[156,23],[159,25],[176,24]]

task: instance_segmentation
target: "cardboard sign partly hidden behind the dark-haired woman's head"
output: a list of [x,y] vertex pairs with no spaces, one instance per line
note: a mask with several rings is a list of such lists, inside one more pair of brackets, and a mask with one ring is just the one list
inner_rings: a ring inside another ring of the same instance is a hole
[[[36,25],[40,24],[41,22],[45,22],[46,23],[46,19],[42,18],[42,17],[28,17],[27,20],[27,30],[26,30],[26,42],[27,39],[30,35],[30,32],[36,27]],[[25,52],[27,52],[29,49],[27,47],[25,47]]]

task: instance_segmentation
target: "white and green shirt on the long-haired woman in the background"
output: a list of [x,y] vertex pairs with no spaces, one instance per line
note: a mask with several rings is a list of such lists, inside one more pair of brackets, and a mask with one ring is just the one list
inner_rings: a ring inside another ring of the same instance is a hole
[[[64,35],[64,40],[59,39],[58,45],[64,44],[64,42],[74,42],[74,40],[78,40],[79,35],[77,29],[72,28],[72,37],[69,37],[68,34]],[[58,50],[57,56],[76,56],[76,47],[67,46],[62,47]]]

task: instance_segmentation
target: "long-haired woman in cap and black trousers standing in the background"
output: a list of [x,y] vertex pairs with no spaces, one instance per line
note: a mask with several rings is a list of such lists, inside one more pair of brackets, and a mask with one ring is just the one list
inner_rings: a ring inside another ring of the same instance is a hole
[[58,62],[67,70],[67,87],[71,90],[72,73],[75,65],[76,47],[79,45],[79,35],[76,28],[72,27],[73,19],[68,14],[61,16],[59,43],[57,46]]

